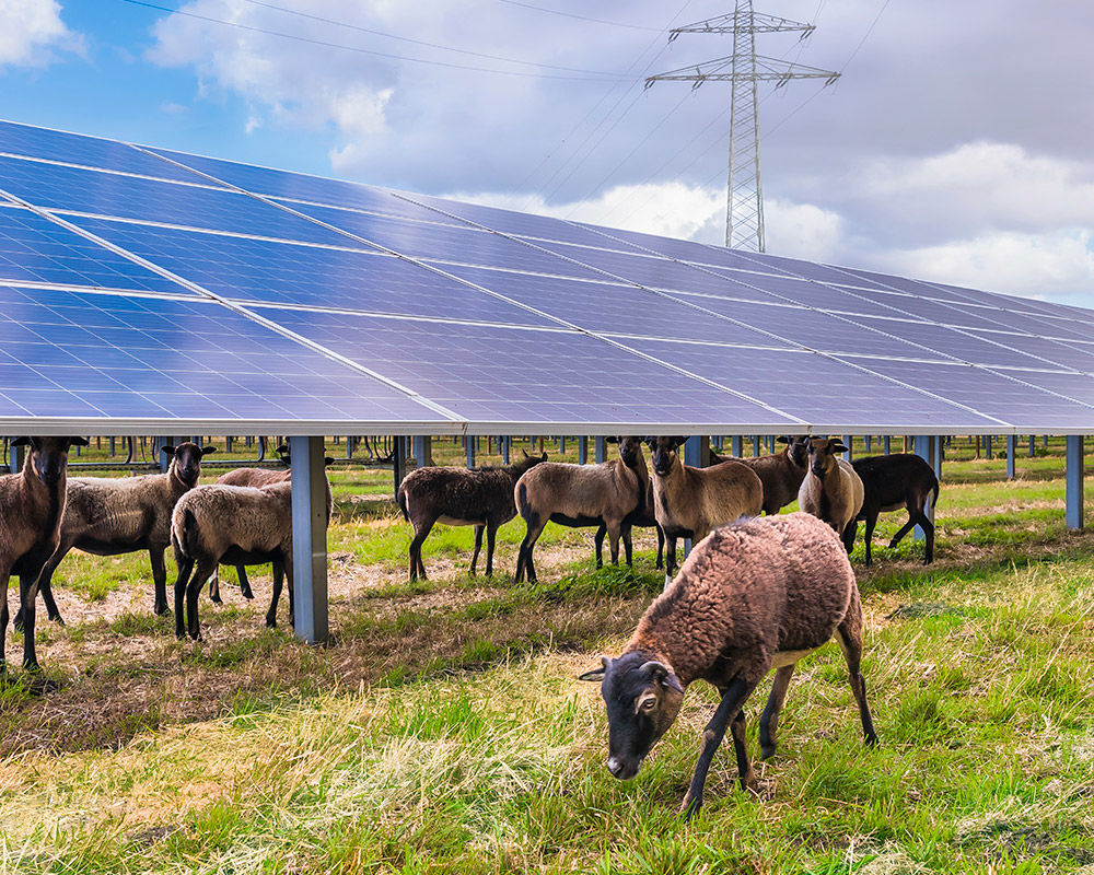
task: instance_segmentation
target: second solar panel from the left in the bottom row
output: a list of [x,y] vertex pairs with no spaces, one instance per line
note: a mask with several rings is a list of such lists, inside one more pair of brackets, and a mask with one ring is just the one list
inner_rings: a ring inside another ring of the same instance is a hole
[[759,405],[587,335],[566,330],[264,311],[300,335],[482,422],[747,422],[787,428]]

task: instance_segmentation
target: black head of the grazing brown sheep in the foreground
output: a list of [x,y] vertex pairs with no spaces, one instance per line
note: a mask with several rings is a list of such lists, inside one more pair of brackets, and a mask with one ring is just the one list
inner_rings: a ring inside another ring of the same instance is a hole
[[673,670],[648,654],[632,651],[582,675],[601,680],[608,713],[608,771],[620,781],[638,774],[650,749],[673,725],[684,688]]

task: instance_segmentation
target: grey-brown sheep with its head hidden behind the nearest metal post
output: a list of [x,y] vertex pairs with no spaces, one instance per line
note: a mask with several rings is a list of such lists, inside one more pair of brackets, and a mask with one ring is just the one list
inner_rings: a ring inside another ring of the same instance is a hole
[[171,545],[178,565],[175,581],[175,634],[178,638],[186,631],[195,640],[201,638],[198,595],[220,564],[272,562],[274,594],[266,625],[277,626],[277,603],[286,575],[292,621],[292,483],[289,480],[259,488],[214,485],[191,490],[175,505]]

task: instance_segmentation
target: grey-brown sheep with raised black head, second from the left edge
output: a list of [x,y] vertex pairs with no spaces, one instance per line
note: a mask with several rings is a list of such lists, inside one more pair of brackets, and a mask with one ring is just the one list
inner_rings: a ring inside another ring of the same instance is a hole
[[[197,486],[201,459],[216,453],[217,447],[202,448],[186,442],[178,446],[168,444],[163,452],[171,456],[164,474],[118,479],[69,478],[60,540],[43,565],[39,579],[42,600],[50,620],[65,625],[50,584],[57,567],[73,547],[95,556],[148,550],[154,590],[152,610],[158,615],[170,612],[163,555],[171,544],[171,512],[178,499]],[[23,623],[22,610],[15,622]]]

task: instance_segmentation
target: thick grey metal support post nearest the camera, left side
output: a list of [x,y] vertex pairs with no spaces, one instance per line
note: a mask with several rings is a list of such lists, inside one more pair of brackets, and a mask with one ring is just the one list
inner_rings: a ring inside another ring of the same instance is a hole
[[[404,439],[396,439],[396,450]],[[327,475],[322,438],[290,438],[292,458],[292,586],[296,637],[326,641]],[[396,453],[398,456],[398,453]]]

